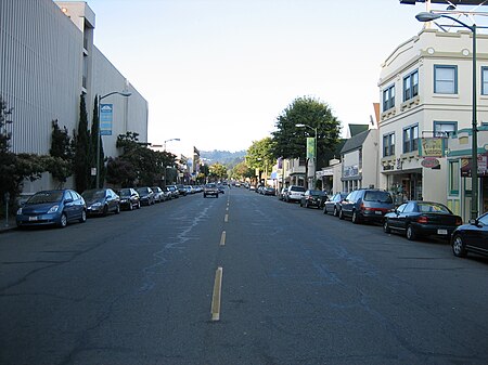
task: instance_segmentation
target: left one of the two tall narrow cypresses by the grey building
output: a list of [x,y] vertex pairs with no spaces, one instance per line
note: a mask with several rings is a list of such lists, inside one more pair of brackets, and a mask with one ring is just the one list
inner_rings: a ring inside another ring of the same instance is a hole
[[75,138],[75,152],[74,152],[74,173],[75,173],[75,187],[79,193],[85,192],[90,186],[90,141],[88,132],[88,115],[87,105],[85,103],[85,95],[80,95],[79,102],[79,122],[78,132],[74,133]]

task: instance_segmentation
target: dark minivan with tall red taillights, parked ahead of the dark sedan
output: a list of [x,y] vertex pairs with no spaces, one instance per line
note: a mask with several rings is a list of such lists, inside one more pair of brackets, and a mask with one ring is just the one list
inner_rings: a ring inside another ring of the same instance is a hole
[[342,203],[339,219],[350,217],[352,223],[361,221],[382,222],[395,205],[387,191],[377,188],[360,188],[350,192]]

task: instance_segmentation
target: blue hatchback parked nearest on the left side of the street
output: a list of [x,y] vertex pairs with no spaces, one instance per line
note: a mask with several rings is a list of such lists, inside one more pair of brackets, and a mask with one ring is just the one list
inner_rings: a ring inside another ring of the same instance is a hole
[[65,227],[68,222],[87,220],[87,205],[77,192],[66,190],[37,192],[18,208],[16,224],[27,225],[56,224]]

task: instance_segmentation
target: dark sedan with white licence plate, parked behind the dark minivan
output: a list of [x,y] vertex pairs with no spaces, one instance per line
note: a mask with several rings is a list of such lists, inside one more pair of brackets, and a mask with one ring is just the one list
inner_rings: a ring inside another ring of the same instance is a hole
[[383,231],[398,231],[410,240],[419,236],[439,236],[449,239],[462,224],[462,219],[440,203],[410,200],[385,214]]

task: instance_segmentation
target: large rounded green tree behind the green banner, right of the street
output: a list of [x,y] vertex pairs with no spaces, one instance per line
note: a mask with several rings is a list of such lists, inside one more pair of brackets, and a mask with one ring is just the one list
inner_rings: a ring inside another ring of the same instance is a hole
[[329,105],[308,96],[295,99],[278,116],[275,127],[277,130],[272,132],[275,158],[305,158],[306,139],[314,138],[313,129],[317,129],[317,169],[328,166],[339,142],[341,122]]

